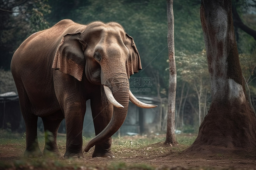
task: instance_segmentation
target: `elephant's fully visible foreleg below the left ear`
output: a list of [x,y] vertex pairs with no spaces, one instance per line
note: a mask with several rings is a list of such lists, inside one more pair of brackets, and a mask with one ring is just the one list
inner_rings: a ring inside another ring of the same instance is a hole
[[86,100],[82,94],[81,83],[68,74],[54,71],[54,90],[65,116],[67,133],[65,158],[84,157],[82,129]]

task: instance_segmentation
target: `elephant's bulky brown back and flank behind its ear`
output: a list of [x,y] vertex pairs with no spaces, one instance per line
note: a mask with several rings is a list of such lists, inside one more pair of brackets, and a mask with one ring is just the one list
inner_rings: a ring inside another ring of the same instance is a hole
[[36,108],[57,103],[52,63],[63,35],[77,29],[72,27],[72,22],[65,20],[47,30],[32,34],[13,55],[11,71],[16,86],[26,90],[29,100]]

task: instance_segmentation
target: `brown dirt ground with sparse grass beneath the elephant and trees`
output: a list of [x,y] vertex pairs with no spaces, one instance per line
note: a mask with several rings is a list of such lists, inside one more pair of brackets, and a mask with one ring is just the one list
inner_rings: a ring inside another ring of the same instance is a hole
[[[164,137],[164,135],[157,136],[157,138]],[[195,138],[193,135],[192,137]],[[9,169],[63,169],[63,165],[65,165],[65,169],[198,169],[199,167],[204,167],[203,169],[256,169],[256,154],[188,155],[182,152],[188,147],[184,144],[175,147],[164,145],[163,142],[134,144],[143,138],[146,137],[124,136],[117,142],[113,142],[112,151],[116,158],[91,158],[92,148],[84,154],[85,158],[75,160],[65,160],[64,158],[25,159],[23,158],[24,143],[10,142],[0,145],[0,161],[4,161],[0,162],[0,169],[3,169],[5,164],[11,165]],[[120,145],[120,142],[124,144]],[[43,146],[40,149],[43,150]],[[64,154],[65,146],[60,144],[59,149]],[[138,164],[136,168],[135,164]]]

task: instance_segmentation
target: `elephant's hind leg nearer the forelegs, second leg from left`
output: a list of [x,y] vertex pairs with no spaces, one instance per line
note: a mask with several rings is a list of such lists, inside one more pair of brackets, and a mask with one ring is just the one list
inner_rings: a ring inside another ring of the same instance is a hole
[[57,131],[63,119],[50,120],[46,117],[42,117],[42,120],[45,132],[43,155],[58,158],[62,157],[63,154],[58,150],[57,146]]

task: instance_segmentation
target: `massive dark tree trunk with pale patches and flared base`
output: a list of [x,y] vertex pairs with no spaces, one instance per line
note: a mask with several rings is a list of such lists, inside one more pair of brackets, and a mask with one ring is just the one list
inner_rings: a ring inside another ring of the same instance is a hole
[[231,11],[231,0],[202,0],[212,103],[195,142],[185,152],[256,151],[256,117],[245,91]]

